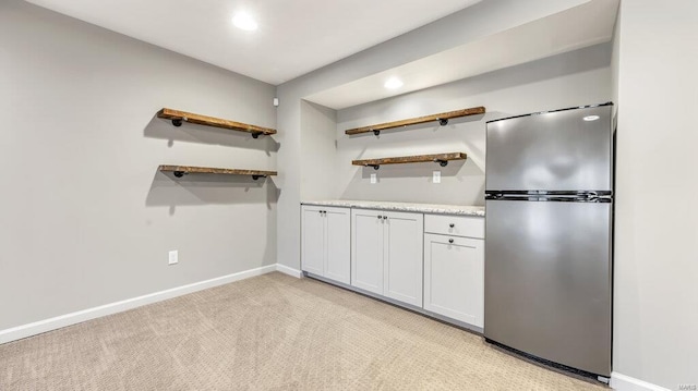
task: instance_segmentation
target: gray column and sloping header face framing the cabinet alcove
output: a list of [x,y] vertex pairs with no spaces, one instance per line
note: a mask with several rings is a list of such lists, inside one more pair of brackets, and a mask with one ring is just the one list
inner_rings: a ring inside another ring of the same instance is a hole
[[[301,101],[312,94],[478,40],[585,0],[488,0],[278,86],[278,262],[300,268]],[[303,196],[315,198],[312,193]]]

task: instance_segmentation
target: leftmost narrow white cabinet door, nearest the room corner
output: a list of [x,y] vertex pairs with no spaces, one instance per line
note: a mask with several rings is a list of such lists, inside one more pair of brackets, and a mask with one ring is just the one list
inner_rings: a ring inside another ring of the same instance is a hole
[[301,270],[324,276],[325,218],[321,207],[301,207]]

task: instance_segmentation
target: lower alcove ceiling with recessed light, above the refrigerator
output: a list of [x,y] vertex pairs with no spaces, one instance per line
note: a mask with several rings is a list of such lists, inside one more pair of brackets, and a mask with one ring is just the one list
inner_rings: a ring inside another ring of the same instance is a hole
[[[617,0],[590,0],[562,12],[315,93],[305,99],[339,110],[607,42],[613,38],[617,9]],[[384,88],[385,82],[392,77],[398,77],[406,83],[397,89]]]

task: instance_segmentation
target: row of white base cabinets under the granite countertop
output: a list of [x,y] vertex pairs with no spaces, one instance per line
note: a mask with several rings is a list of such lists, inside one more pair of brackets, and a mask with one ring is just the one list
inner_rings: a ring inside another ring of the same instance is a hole
[[482,329],[484,219],[302,206],[301,269]]

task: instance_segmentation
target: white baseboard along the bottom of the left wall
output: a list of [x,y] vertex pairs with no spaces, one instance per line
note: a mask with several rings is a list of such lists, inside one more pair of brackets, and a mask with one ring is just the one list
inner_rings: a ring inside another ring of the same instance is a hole
[[[205,289],[224,285],[230,282],[244,280],[251,277],[262,276],[272,271],[279,270],[280,265],[268,265],[261,268],[240,271],[237,273],[218,277],[215,279],[194,282],[192,284],[172,288],[166,291],[155,292],[139,297],[128,298],[121,302],[101,305],[99,307],[87,308],[79,310],[76,313],[65,314],[53,318],[35,321],[33,323],[13,327],[11,329],[0,330],[0,344],[11,341],[16,341],[23,338],[40,334],[43,332],[60,329],[67,326],[80,323],[86,320],[96,319],[103,316],[121,313],[128,309],[144,306],[146,304],[153,304],[161,302],[168,298],[185,295],[202,291]],[[293,269],[284,266],[284,270],[279,270],[285,273],[290,273]],[[293,276],[293,274],[291,274]]]

